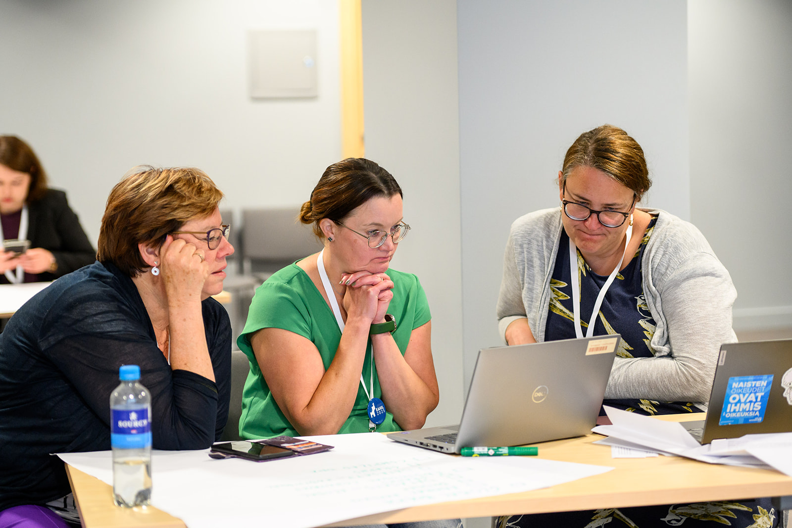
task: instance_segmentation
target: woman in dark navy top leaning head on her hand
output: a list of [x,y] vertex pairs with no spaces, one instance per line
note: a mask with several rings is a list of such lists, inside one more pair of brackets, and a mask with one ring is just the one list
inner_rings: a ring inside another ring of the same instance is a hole
[[[110,193],[98,262],[36,294],[0,334],[3,510],[69,493],[51,453],[110,449],[109,396],[137,364],[154,449],[211,445],[230,395],[223,194],[199,169],[145,168]],[[21,506],[29,507],[29,506]]]

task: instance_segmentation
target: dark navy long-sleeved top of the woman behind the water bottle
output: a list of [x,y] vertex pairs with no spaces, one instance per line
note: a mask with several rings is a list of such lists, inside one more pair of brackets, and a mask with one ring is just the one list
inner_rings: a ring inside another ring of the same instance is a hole
[[110,449],[110,393],[121,365],[151,393],[154,449],[204,449],[220,438],[230,397],[226,310],[202,302],[212,382],[171,370],[132,280],[96,262],[36,294],[0,333],[0,511],[69,492],[52,453]]

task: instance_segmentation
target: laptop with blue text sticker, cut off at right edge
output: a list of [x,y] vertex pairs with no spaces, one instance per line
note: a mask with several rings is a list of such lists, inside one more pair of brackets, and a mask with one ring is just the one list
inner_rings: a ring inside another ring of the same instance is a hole
[[683,425],[703,444],[792,432],[792,340],[722,345],[706,420]]

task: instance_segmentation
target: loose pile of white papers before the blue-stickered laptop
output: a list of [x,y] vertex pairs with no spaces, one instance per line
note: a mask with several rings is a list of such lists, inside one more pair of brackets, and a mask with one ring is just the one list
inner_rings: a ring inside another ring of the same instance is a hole
[[714,440],[702,446],[682,424],[607,406],[605,412],[612,425],[598,425],[592,429],[608,437],[598,443],[694,458],[711,464],[778,469],[792,477],[792,433],[745,435],[739,439]]

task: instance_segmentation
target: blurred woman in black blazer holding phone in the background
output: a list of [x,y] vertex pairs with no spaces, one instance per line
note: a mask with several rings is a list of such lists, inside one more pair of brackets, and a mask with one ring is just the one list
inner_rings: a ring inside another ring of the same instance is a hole
[[0,284],[48,282],[96,260],[66,193],[47,187],[36,153],[14,135],[0,136],[0,241]]

